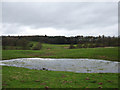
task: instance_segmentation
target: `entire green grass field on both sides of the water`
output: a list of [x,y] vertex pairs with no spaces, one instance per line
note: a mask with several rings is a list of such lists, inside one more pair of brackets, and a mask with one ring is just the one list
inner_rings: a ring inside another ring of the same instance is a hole
[[[2,59],[40,57],[118,61],[118,47],[80,49],[68,49],[68,47],[69,45],[42,44],[41,50],[2,50]],[[3,66],[2,86],[3,88],[118,88],[118,73],[73,73]]]

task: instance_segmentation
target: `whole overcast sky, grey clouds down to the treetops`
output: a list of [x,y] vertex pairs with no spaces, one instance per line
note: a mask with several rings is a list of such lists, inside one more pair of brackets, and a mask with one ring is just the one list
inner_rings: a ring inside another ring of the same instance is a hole
[[117,2],[4,2],[2,35],[117,36]]

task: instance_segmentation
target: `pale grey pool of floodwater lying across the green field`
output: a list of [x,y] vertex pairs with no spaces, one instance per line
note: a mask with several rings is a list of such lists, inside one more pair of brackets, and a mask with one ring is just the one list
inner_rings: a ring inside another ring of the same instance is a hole
[[38,70],[77,73],[118,73],[119,62],[96,59],[19,58],[0,61],[0,65]]

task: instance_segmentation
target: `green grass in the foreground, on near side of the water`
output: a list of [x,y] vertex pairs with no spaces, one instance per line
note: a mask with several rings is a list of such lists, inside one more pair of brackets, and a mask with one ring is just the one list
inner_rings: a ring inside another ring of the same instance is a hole
[[3,66],[2,71],[3,88],[118,88],[118,73],[41,71],[8,66]]

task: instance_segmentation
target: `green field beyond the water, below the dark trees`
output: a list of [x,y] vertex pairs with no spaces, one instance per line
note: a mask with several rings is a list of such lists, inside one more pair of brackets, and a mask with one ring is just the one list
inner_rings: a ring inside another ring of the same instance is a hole
[[[35,43],[34,43],[35,44]],[[3,50],[2,59],[91,58],[118,61],[118,47],[68,49],[69,45],[42,44],[41,50]]]

